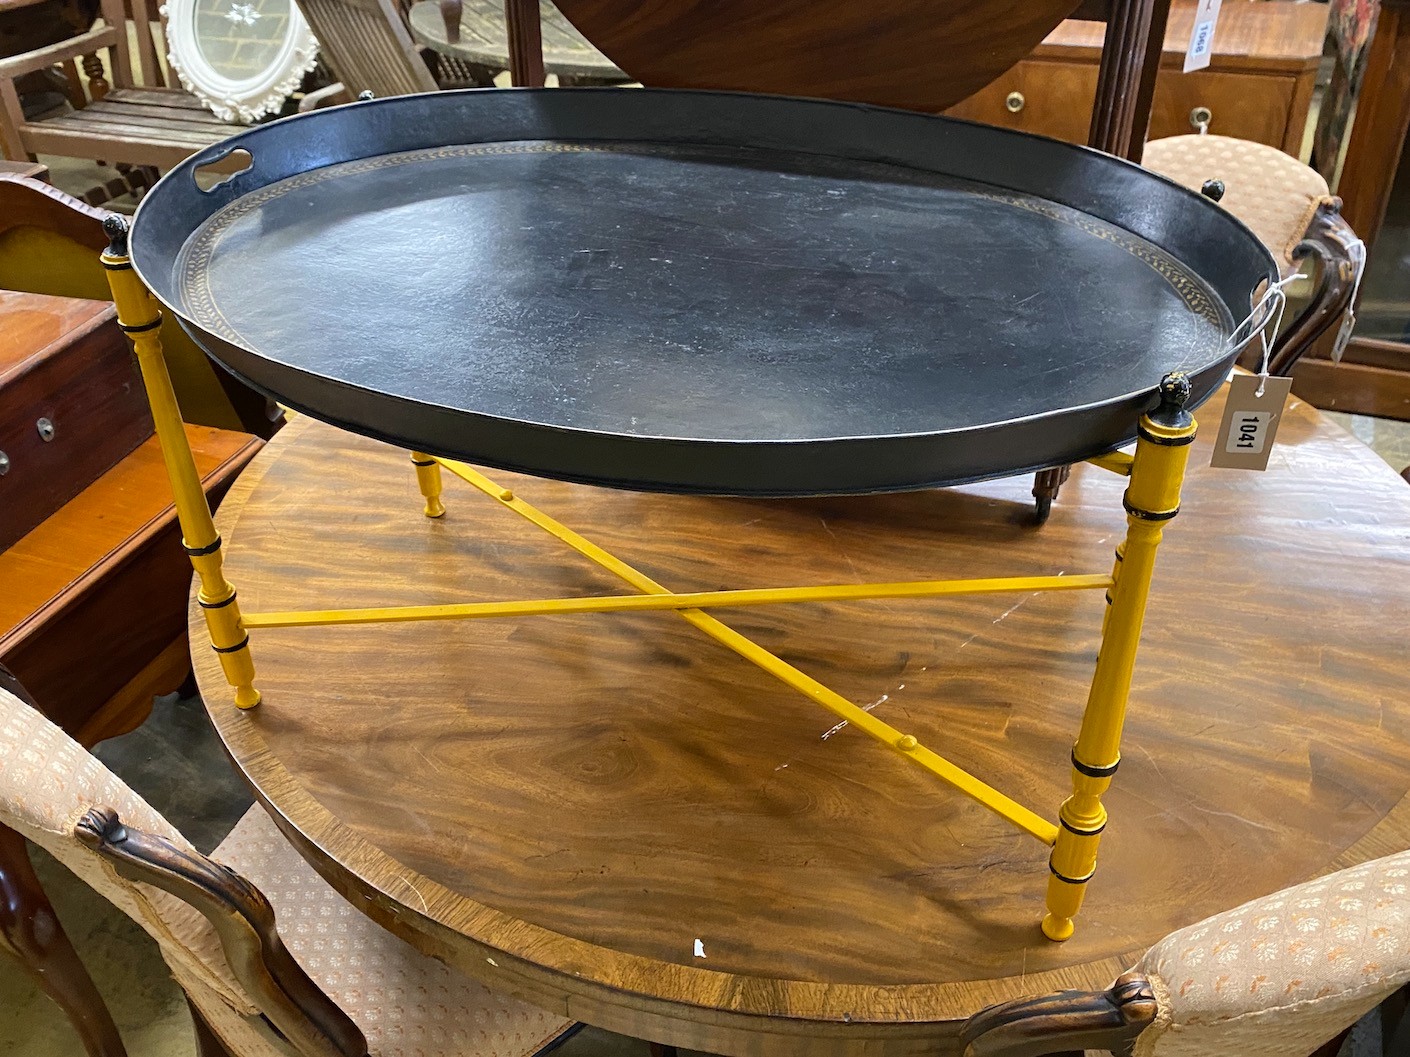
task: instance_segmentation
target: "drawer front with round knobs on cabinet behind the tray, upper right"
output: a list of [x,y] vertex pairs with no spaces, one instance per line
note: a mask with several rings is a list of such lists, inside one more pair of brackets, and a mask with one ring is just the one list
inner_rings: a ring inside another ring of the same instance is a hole
[[[1196,131],[1190,114],[1207,107],[1211,132],[1280,148],[1296,87],[1290,76],[1163,69],[1151,107],[1151,138]],[[1083,144],[1096,94],[1096,66],[1025,59],[946,113]]]

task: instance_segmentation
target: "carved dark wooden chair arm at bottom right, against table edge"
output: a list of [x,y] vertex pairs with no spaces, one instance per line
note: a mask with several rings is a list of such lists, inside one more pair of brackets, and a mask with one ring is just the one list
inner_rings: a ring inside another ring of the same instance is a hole
[[1059,991],[981,1009],[960,1030],[964,1057],[1041,1057],[1072,1050],[1129,1053],[1155,1020],[1151,981],[1125,972],[1108,991]]

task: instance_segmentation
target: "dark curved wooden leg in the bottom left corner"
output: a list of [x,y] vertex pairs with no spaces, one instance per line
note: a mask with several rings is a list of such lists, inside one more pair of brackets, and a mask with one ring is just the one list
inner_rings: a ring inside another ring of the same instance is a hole
[[68,1015],[89,1057],[127,1057],[113,1016],[34,875],[24,837],[0,826],[0,950]]

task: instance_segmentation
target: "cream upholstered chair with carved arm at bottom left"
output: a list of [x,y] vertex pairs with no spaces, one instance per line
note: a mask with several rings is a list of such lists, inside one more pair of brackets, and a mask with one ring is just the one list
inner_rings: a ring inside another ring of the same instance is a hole
[[190,1002],[202,1057],[527,1057],[572,1027],[372,923],[258,805],[202,855],[4,689],[0,823],[157,940]]

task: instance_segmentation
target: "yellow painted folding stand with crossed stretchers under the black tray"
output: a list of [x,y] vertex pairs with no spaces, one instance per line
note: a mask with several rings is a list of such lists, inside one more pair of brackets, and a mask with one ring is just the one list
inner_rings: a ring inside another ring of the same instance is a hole
[[[1097,864],[1097,843],[1107,824],[1101,795],[1121,758],[1121,729],[1125,722],[1127,695],[1135,664],[1136,644],[1145,617],[1146,595],[1155,567],[1155,551],[1165,521],[1180,506],[1180,483],[1189,444],[1194,440],[1194,419],[1184,410],[1190,395],[1183,375],[1167,375],[1160,382],[1160,403],[1141,419],[1135,455],[1114,452],[1091,462],[1115,474],[1128,475],[1125,493],[1127,537],[1117,548],[1111,575],[1083,576],[1007,576],[997,579],[907,581],[900,583],[843,583],[805,588],[767,588],[754,591],[702,591],[675,593],[591,540],[496,485],[477,469],[460,462],[412,452],[416,479],[423,496],[423,513],[440,517],[441,468],[472,485],[506,510],[557,537],[582,557],[625,581],[636,593],[596,598],[529,599],[519,602],[468,602],[448,606],[398,606],[389,609],[333,609],[290,613],[248,613],[241,617],[235,591],[226,581],[220,562],[220,537],[210,517],[196,466],[186,444],[171,379],[162,361],[157,328],[161,313],[155,300],[131,269],[127,258],[127,224],[120,217],[106,223],[113,244],[103,255],[117,303],[118,323],[131,335],[142,379],[152,403],[152,417],[176,495],[186,551],[200,576],[199,600],[210,640],[220,654],[226,678],[235,689],[235,703],[248,709],[259,703],[254,686],[255,671],[250,657],[250,629],[309,627],[320,624],[367,624],[405,620],[486,620],[563,613],[620,613],[639,610],[674,610],[721,645],[752,661],[781,679],[839,719],[871,736],[901,757],[911,760],[942,781],[1052,847],[1048,881],[1048,915],[1043,933],[1066,940],[1073,933],[1073,917],[1081,906],[1083,892]],[[842,695],[776,657],[757,643],[706,613],[721,606],[761,606],[790,602],[838,602],[883,598],[943,598],[950,595],[1000,595],[1036,591],[1107,592],[1101,650],[1081,720],[1081,731],[1072,751],[1073,793],[1058,812],[1058,824],[1010,799],[998,789],[963,771],[866,712]]]

